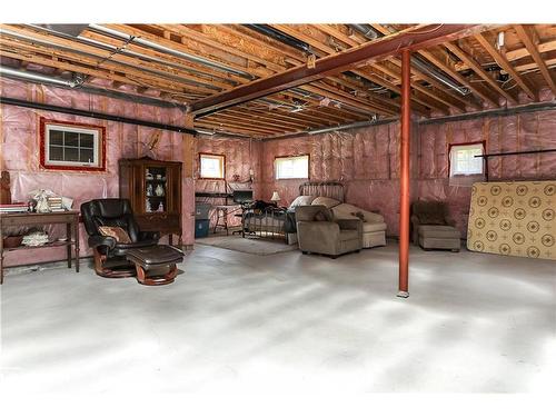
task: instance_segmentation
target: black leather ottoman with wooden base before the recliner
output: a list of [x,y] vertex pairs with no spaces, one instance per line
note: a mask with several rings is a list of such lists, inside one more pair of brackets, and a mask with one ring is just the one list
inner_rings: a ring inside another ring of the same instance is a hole
[[176,264],[183,260],[183,252],[171,246],[156,245],[130,249],[126,258],[135,264],[139,284],[160,286],[173,282],[178,275]]

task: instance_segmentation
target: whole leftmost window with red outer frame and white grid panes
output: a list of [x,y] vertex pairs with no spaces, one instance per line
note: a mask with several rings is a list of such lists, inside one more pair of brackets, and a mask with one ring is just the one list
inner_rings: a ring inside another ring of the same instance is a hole
[[105,128],[41,119],[40,162],[46,169],[103,171]]

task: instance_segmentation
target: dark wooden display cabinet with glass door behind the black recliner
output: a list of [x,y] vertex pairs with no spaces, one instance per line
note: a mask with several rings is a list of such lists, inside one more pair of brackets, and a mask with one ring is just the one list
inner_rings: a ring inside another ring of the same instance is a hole
[[178,235],[181,246],[181,162],[121,159],[120,197],[131,201],[141,230]]

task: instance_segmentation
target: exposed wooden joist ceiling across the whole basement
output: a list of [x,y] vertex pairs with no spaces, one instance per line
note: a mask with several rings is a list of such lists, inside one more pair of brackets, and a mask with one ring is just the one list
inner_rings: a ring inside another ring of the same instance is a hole
[[[447,27],[365,24],[384,37],[370,41],[353,26],[340,23],[266,26],[298,44],[260,31],[264,26],[248,24],[103,24],[88,27],[79,38],[40,26],[2,24],[7,30],[0,33],[0,58],[30,72],[62,80],[81,73],[91,87],[195,106],[247,86],[268,88],[269,80],[299,71],[300,80],[289,78],[291,85],[274,86],[262,92],[264,99],[241,97],[230,107],[217,103],[215,111],[202,110],[195,120],[200,128],[262,138],[399,115],[399,50],[338,64],[341,68],[335,70],[322,68],[322,62],[341,61],[338,57],[370,46],[383,48],[385,40],[399,41],[407,32],[436,38]],[[514,105],[524,95],[538,101],[539,96],[549,97],[539,95],[546,88],[556,95],[554,26],[474,28],[413,46],[414,57],[425,62],[411,68],[411,107],[417,116],[499,107],[500,98]],[[500,32],[502,47],[496,43]],[[137,38],[127,41],[130,37]],[[439,42],[451,50],[433,46]],[[308,68],[311,52],[318,75]],[[460,87],[454,88],[435,71]],[[461,93],[460,88],[468,92]]]

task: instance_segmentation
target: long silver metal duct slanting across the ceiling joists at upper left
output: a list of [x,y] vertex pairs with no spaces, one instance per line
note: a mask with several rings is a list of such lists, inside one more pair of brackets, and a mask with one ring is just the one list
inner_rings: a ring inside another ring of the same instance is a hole
[[120,32],[120,31],[117,31],[113,29],[105,28],[105,27],[99,26],[99,24],[91,23],[91,24],[89,24],[89,29],[97,32],[97,33],[109,36],[113,39],[119,39],[121,41],[129,42],[129,43],[140,44],[142,47],[147,47],[147,48],[150,48],[150,49],[159,51],[159,52],[168,53],[168,54],[171,54],[171,56],[177,57],[177,58],[187,59],[188,61],[191,61],[191,62],[197,62],[197,63],[200,63],[200,64],[203,64],[207,67],[211,67],[211,68],[217,69],[219,71],[235,73],[236,76],[240,76],[240,77],[248,78],[248,79],[255,78],[249,72],[237,70],[237,69],[228,67],[224,63],[211,61],[209,59],[201,58],[201,57],[198,57],[198,56],[195,56],[191,53],[177,51],[177,50],[173,50],[171,48],[167,48],[167,47],[163,47],[161,44],[155,43],[150,40],[141,39],[139,37],[132,37],[132,36],[129,36],[127,33],[123,33],[123,32]]

